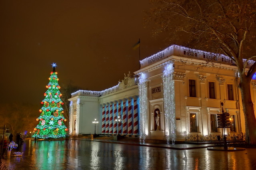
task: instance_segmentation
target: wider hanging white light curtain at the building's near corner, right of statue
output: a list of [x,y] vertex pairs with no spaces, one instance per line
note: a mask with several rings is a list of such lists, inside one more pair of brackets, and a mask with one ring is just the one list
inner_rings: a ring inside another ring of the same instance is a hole
[[164,115],[165,115],[165,129],[167,136],[167,143],[170,138],[172,144],[176,138],[176,117],[175,117],[175,101],[174,101],[174,80],[172,73],[174,72],[173,64],[170,63],[164,67],[163,83],[164,83]]

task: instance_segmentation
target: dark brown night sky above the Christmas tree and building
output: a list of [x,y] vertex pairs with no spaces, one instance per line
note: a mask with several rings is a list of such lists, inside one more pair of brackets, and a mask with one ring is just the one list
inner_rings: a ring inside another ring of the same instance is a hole
[[[167,47],[144,28],[149,0],[1,0],[1,103],[40,103],[56,62],[60,84],[101,91]],[[60,89],[61,91],[61,89]]]

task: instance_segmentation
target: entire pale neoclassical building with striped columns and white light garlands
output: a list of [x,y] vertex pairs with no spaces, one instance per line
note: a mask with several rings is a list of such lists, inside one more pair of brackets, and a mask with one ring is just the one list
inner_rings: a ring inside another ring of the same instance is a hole
[[[255,80],[251,88],[254,102]],[[118,85],[79,90],[69,101],[71,135],[94,134],[94,119],[97,134],[139,136],[142,142],[217,140],[222,134],[240,140],[245,132],[236,65],[224,55],[178,45],[141,60],[140,70]],[[218,128],[221,103],[230,114],[225,130]]]

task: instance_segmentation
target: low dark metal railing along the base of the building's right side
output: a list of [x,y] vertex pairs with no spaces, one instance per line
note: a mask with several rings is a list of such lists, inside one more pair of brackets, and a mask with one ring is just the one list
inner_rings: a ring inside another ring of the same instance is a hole
[[[228,141],[245,140],[243,134],[228,134],[226,135]],[[224,140],[222,134],[210,134],[210,135],[198,135],[188,134],[186,135],[186,141],[188,142],[218,142]]]

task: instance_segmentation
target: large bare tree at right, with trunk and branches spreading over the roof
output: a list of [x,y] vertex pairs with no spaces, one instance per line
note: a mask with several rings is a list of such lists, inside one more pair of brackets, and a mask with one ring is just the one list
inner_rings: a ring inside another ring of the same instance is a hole
[[[169,32],[171,43],[223,53],[237,66],[245,117],[246,142],[256,144],[256,118],[250,82],[256,71],[256,0],[152,0],[146,20],[153,35]],[[182,36],[186,35],[186,38]],[[186,43],[184,43],[186,42]]]

